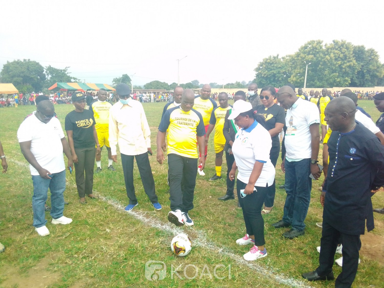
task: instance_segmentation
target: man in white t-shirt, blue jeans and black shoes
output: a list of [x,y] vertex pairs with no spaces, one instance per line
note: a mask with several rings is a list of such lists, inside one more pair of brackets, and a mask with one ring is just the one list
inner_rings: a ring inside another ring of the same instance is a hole
[[286,154],[281,163],[287,196],[283,218],[272,226],[291,226],[291,230],[283,233],[283,237],[293,239],[304,234],[304,220],[311,199],[310,174],[316,180],[321,175],[318,166],[320,117],[317,106],[296,96],[290,86],[279,89],[277,101],[287,110]]

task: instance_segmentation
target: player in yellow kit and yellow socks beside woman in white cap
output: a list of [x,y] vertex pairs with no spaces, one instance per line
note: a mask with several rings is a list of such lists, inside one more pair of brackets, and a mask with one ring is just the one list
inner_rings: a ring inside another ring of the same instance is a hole
[[224,146],[226,142],[223,134],[223,127],[225,122],[225,114],[227,114],[227,111],[232,108],[232,106],[228,104],[227,93],[222,92],[218,94],[217,99],[220,106],[216,107],[212,111],[207,134],[205,134],[205,146],[207,146],[209,135],[215,128],[214,147],[215,147],[215,153],[216,153],[216,159],[215,159],[216,173],[215,175],[209,178],[210,181],[214,181],[222,178],[221,166],[223,164],[223,152],[224,152]]

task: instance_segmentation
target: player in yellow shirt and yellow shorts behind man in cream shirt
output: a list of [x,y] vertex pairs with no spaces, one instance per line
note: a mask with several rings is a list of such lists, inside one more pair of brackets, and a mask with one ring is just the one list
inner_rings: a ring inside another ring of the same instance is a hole
[[[89,106],[89,111],[93,113],[93,117],[95,119],[95,128],[97,132],[97,137],[99,139],[100,149],[103,149],[103,146],[107,148],[108,151],[108,170],[116,171],[113,167],[113,160],[111,154],[111,147],[109,146],[109,109],[111,109],[112,104],[106,101],[108,92],[106,89],[101,88],[98,93],[98,100],[93,102]],[[96,155],[96,171],[95,173],[99,173],[103,169],[101,169],[101,153]]]

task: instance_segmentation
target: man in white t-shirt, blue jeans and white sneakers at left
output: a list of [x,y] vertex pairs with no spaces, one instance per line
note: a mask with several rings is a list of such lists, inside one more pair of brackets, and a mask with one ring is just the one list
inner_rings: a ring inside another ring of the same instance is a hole
[[[40,236],[50,232],[45,226],[44,204],[48,187],[51,191],[52,224],[69,224],[72,219],[63,216],[65,190],[65,164],[63,151],[68,158],[68,169],[73,169],[70,146],[60,121],[55,118],[50,100],[41,101],[36,113],[26,118],[17,131],[20,148],[30,164],[33,181],[33,226]],[[60,148],[59,148],[60,147]]]

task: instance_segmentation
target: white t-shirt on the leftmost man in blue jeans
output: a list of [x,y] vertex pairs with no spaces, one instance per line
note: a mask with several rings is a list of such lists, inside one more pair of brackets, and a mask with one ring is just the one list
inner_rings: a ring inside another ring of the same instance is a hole
[[[48,123],[41,122],[36,115],[26,118],[17,131],[19,142],[31,142],[31,152],[41,167],[51,173],[65,170],[63,157],[64,132],[60,121],[52,118]],[[30,164],[31,175],[39,175],[39,172]]]

